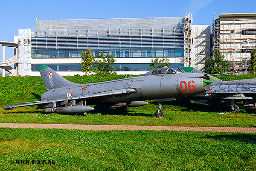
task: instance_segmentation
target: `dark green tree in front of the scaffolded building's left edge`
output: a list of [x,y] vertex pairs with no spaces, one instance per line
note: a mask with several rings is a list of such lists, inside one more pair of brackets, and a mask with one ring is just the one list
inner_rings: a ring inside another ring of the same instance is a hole
[[218,52],[205,60],[205,70],[209,74],[221,74],[230,70],[230,63],[224,60],[225,55]]

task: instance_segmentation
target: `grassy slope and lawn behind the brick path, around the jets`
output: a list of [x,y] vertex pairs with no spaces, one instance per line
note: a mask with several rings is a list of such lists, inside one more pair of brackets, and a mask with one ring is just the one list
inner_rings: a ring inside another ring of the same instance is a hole
[[[75,83],[94,83],[115,80],[128,75],[112,76],[67,76],[67,80]],[[255,75],[222,75],[222,80],[255,78]],[[46,91],[41,77],[0,77],[0,107],[27,101],[40,100]],[[116,115],[114,109],[104,105],[94,106],[95,110],[86,116],[41,114],[36,106],[16,108],[12,111],[0,109],[0,123],[66,123],[66,124],[110,124],[110,125],[166,125],[166,126],[227,126],[255,127],[256,117],[241,110],[239,114],[228,113],[220,104],[204,105],[181,98],[177,101],[163,103],[164,117],[157,119],[154,113],[158,104],[149,104],[137,108],[129,108],[128,113]]]

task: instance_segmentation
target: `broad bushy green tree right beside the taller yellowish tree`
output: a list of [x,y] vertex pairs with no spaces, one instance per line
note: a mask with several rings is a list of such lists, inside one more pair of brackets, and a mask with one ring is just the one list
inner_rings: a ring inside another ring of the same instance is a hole
[[116,74],[115,68],[112,65],[116,62],[115,58],[113,54],[109,55],[107,53],[104,55],[100,53],[97,55],[97,59],[94,59],[94,68],[92,68],[92,71],[97,75]]

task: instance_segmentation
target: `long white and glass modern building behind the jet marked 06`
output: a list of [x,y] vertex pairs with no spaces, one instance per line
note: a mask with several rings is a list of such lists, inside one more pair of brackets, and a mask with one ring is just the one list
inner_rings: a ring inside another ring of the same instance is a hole
[[61,75],[83,74],[81,51],[89,47],[95,55],[113,54],[117,74],[144,74],[156,57],[168,58],[171,67],[202,70],[210,54],[209,37],[210,25],[192,25],[188,13],[185,17],[37,19],[35,29],[19,29],[19,75],[40,75],[41,65]]

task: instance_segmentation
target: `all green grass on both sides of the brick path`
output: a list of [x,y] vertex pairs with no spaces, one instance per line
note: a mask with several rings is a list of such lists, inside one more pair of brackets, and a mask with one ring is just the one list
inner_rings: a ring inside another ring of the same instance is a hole
[[[128,75],[114,79],[123,77]],[[113,79],[79,75],[66,78],[76,83]],[[39,100],[44,92],[41,77],[0,78],[0,96],[4,97],[0,99],[0,107]],[[154,113],[158,104],[154,100],[148,102],[129,108],[126,114],[114,114],[113,109],[96,105],[85,116],[41,114],[42,109],[36,106],[12,111],[0,109],[0,123],[256,126],[256,117],[244,110],[227,114],[227,108],[221,104],[204,105],[185,98],[163,103],[164,117],[157,119]],[[22,161],[24,164],[20,164]],[[0,128],[0,171],[6,170],[254,171],[256,133]]]

